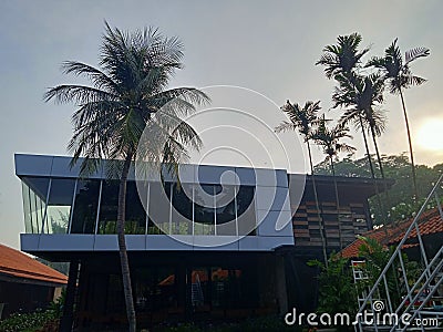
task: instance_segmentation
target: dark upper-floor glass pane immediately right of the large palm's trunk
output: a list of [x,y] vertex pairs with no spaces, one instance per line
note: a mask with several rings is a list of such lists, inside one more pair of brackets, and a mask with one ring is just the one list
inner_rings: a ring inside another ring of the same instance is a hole
[[[144,196],[144,195],[142,195]],[[144,196],[146,199],[146,196]],[[145,234],[146,211],[138,196],[135,181],[126,185],[126,220],[125,234]]]

